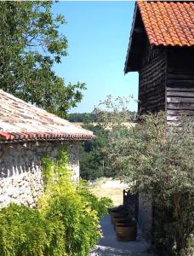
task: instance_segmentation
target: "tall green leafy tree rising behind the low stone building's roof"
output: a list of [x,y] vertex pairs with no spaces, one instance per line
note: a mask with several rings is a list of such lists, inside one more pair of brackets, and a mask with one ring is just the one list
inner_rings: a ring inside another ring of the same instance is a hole
[[67,39],[59,28],[62,15],[51,12],[53,2],[0,3],[0,88],[26,102],[66,117],[82,100],[85,84],[65,85],[53,70],[66,56]]

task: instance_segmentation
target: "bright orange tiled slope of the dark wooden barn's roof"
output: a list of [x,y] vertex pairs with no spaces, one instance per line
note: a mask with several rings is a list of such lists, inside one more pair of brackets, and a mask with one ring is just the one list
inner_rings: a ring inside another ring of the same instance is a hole
[[194,45],[194,3],[138,1],[145,31],[152,45]]

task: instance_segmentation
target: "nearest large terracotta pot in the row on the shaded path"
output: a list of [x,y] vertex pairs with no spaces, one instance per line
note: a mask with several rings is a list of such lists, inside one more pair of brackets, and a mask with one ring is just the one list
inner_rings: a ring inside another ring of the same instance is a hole
[[137,236],[137,224],[117,224],[116,233],[118,241],[135,241]]

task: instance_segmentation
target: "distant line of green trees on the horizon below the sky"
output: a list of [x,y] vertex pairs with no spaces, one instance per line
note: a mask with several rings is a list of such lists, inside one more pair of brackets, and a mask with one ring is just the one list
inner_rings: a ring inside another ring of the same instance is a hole
[[[128,118],[128,121],[134,121],[135,119],[136,112],[132,111],[130,112],[130,117]],[[75,123],[92,123],[96,122],[96,116],[94,113],[69,113],[68,120],[70,122],[75,122]]]

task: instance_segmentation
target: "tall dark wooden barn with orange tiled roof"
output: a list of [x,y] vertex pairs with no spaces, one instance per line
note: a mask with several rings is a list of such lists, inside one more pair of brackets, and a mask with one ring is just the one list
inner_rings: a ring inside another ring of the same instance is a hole
[[194,2],[138,1],[124,72],[139,72],[139,113],[194,116]]

